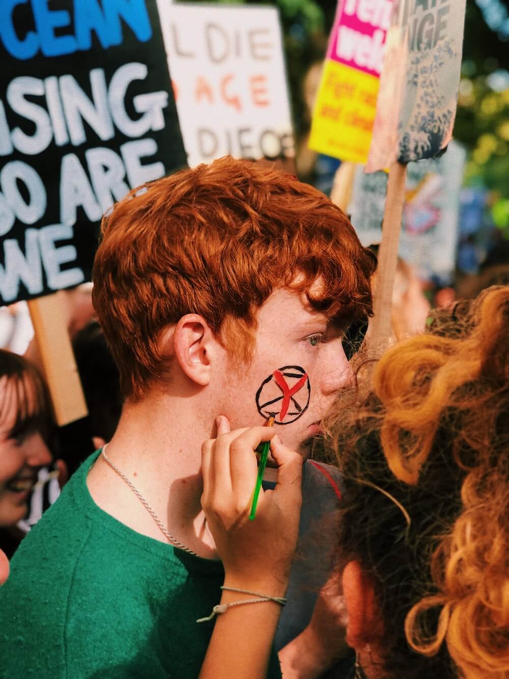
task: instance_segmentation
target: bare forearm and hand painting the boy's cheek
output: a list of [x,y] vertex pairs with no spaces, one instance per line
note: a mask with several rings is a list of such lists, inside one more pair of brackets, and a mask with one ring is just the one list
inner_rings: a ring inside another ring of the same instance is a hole
[[[221,418],[218,433],[202,448],[202,507],[225,567],[224,586],[284,597],[299,530],[301,457],[273,438],[274,428],[229,432]],[[250,521],[254,450],[269,439],[278,481],[273,491],[261,491],[257,516]],[[221,604],[255,598],[223,590]],[[219,614],[200,679],[265,678],[279,617],[280,605],[271,601],[231,606]]]

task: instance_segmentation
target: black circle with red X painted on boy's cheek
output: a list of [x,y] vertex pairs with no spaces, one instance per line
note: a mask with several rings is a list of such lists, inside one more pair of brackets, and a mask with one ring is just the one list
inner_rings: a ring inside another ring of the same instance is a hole
[[311,384],[300,365],[285,365],[263,380],[257,391],[259,414],[276,413],[276,424],[290,424],[303,416],[309,406]]

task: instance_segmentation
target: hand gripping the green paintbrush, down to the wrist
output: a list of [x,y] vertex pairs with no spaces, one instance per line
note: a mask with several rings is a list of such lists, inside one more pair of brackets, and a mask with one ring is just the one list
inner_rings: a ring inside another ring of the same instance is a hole
[[[269,443],[278,478],[274,490],[259,490],[257,518],[250,521],[259,443]],[[202,507],[225,566],[225,583],[244,589],[265,585],[267,593],[281,595],[297,545],[301,456],[286,448],[272,427],[230,431],[221,417],[216,439],[202,445],[202,473]]]

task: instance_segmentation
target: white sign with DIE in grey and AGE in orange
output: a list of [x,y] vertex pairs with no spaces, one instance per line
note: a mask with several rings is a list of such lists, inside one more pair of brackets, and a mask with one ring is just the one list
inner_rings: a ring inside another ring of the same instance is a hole
[[277,10],[157,6],[189,165],[223,155],[292,159]]

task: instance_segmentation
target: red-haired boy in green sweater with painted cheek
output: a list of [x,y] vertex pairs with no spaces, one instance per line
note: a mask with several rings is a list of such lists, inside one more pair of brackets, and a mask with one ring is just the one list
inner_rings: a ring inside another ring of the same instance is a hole
[[133,191],[105,217],[94,306],[126,400],[0,591],[0,647],[37,640],[17,676],[198,676],[212,625],[196,620],[223,581],[202,442],[218,415],[233,429],[274,413],[293,449],[316,433],[350,381],[343,333],[371,313],[373,269],[319,191],[231,158]]

